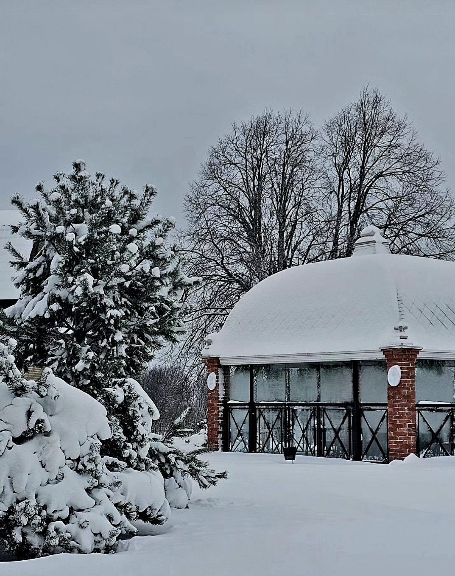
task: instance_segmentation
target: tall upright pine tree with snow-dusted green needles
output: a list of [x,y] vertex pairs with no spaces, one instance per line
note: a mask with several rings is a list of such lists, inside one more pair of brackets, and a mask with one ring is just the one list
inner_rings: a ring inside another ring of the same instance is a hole
[[[135,378],[184,331],[180,297],[195,279],[166,244],[173,219],[147,219],[153,187],[138,194],[118,180],[106,183],[101,173],[93,179],[84,161],[54,179],[51,191],[37,184],[39,198],[12,200],[22,219],[13,232],[31,240],[33,250],[27,259],[8,247],[21,297],[2,314],[0,335],[16,338],[18,366],[51,367],[106,407],[112,437],[103,454],[153,469],[162,464],[155,449],[149,454],[151,420],[159,415]],[[184,459],[175,466],[191,476]],[[203,464],[193,478],[216,483]]]

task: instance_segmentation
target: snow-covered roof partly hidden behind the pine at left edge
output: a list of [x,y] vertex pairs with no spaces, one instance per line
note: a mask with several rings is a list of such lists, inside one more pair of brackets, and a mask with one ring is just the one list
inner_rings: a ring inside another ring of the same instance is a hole
[[11,233],[10,225],[17,224],[20,219],[17,210],[0,210],[0,300],[14,300],[19,296],[19,291],[13,286],[12,281],[16,271],[9,265],[12,256],[5,249],[5,244],[11,241],[24,256],[28,256],[32,249],[31,242]]

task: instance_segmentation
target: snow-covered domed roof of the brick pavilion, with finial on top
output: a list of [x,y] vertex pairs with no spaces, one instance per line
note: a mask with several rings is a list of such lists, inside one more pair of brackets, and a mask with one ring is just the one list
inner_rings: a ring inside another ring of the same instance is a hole
[[455,263],[393,255],[367,226],[351,257],[254,286],[206,342],[203,356],[224,364],[383,358],[389,344],[455,358]]

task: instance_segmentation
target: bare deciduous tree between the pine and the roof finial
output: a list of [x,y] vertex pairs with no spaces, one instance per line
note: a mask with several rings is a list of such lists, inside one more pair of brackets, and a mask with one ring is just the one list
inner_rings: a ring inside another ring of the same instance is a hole
[[304,113],[266,110],[234,123],[208,151],[185,199],[189,226],[182,242],[190,274],[202,277],[189,298],[190,357],[257,282],[323,257],[316,138]]

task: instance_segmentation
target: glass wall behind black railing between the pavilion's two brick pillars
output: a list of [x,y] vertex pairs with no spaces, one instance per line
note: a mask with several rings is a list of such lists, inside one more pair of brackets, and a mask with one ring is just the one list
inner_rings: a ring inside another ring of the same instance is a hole
[[[360,420],[352,406],[354,366]],[[229,378],[230,436],[224,440],[230,450],[279,453],[291,438],[298,453],[343,458],[360,453],[367,460],[387,460],[387,408],[369,406],[386,404],[385,361],[235,366]],[[253,407],[245,406],[250,389]],[[355,425],[362,427],[360,449]]]

